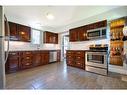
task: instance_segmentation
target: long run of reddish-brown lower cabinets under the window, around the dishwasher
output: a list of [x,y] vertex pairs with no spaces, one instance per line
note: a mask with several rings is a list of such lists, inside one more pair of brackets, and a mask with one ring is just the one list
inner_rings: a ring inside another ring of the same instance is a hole
[[[59,50],[58,50],[59,51]],[[40,51],[11,51],[5,64],[6,73],[14,73],[20,70],[49,64],[50,50]],[[60,55],[60,52],[58,52]],[[60,56],[57,56],[59,59]]]

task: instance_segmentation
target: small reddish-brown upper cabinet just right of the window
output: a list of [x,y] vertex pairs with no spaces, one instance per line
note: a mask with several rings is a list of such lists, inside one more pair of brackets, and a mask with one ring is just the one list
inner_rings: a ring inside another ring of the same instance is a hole
[[45,31],[44,32],[44,43],[58,44],[58,34]]

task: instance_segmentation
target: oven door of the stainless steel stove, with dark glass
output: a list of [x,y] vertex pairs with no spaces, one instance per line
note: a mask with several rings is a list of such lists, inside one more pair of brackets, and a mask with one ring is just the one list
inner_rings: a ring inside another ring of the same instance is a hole
[[100,68],[107,68],[106,52],[87,52],[86,65]]

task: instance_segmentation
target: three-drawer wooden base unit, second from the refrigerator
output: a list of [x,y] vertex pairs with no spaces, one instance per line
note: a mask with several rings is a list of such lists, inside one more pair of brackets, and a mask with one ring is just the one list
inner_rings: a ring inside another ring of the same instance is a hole
[[31,51],[23,51],[20,53],[20,68],[21,69],[27,69],[27,68],[31,68],[33,66],[33,55]]

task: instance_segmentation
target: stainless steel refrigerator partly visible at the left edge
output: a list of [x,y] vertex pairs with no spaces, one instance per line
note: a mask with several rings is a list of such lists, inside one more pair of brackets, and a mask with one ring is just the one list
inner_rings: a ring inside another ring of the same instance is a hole
[[[7,31],[6,35],[5,26]],[[3,6],[0,6],[0,89],[4,89],[6,86],[5,63],[9,53],[9,34],[9,24],[7,18],[4,15],[4,8]],[[7,45],[6,50],[5,43]]]

